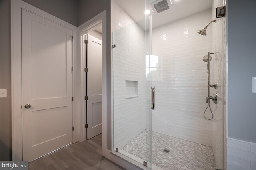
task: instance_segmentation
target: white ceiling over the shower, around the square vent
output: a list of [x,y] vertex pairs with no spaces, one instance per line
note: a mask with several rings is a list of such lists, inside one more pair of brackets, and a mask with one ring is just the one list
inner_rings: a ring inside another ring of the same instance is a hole
[[[150,10],[149,15],[152,15],[152,28],[210,9],[213,0],[172,0],[173,7],[159,14],[155,14],[150,7],[155,1],[146,0],[146,9]],[[116,0],[116,2],[134,21],[145,18],[145,0]]]

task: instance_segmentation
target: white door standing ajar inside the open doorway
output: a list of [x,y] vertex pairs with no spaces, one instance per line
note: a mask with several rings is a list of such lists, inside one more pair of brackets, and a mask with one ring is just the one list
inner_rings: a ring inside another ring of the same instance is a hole
[[102,41],[87,37],[87,139],[102,133]]

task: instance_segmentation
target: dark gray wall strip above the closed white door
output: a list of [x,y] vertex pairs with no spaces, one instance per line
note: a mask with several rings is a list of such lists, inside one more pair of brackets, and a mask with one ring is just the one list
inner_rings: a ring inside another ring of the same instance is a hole
[[78,0],[23,0],[74,26],[78,26]]

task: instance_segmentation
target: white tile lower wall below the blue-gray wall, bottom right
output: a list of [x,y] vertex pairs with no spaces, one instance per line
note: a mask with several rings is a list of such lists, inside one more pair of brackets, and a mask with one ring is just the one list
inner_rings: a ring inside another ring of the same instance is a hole
[[256,144],[227,139],[227,169],[228,170],[256,170]]

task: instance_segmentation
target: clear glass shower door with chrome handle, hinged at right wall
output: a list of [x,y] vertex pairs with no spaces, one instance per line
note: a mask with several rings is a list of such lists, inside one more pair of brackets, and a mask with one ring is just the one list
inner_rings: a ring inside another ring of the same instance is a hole
[[[146,2],[152,9],[152,1]],[[155,87],[153,169],[223,169],[225,18],[212,22],[207,35],[198,34],[216,18],[217,4],[223,5],[217,0],[204,2],[208,8],[194,0],[172,0],[169,10],[150,13],[152,50],[146,56],[146,75]],[[196,6],[193,14],[186,13],[188,3]],[[208,52],[209,63],[203,61]],[[208,83],[218,83],[217,89]],[[208,88],[210,96],[218,94],[217,104],[206,103]]]

